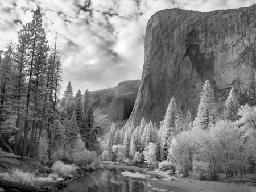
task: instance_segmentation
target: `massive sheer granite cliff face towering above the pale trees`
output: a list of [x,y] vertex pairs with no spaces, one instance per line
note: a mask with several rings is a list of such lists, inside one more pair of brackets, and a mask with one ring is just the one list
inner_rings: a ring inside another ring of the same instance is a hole
[[148,21],[142,84],[128,124],[159,124],[171,97],[183,114],[195,117],[205,80],[221,111],[232,87],[247,102],[251,70],[256,68],[256,5],[198,12],[168,9]]

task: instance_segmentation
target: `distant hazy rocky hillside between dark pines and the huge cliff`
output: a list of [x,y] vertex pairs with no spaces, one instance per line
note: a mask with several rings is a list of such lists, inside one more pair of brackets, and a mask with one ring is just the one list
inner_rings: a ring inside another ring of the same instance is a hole
[[113,121],[127,120],[133,111],[141,80],[120,82],[114,88],[90,92],[92,107]]

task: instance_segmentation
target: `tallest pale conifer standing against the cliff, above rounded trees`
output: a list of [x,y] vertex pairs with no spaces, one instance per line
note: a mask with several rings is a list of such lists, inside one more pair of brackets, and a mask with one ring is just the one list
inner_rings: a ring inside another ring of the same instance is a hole
[[206,80],[201,92],[201,100],[198,106],[194,127],[207,130],[210,123],[214,122],[215,116],[214,92],[210,82]]

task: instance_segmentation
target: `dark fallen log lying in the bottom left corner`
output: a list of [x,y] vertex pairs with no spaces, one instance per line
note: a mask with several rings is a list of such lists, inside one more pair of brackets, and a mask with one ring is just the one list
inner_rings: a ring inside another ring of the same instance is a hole
[[3,180],[0,178],[0,187],[5,190],[18,190],[20,192],[36,192],[37,190],[34,187],[23,185],[21,183]]

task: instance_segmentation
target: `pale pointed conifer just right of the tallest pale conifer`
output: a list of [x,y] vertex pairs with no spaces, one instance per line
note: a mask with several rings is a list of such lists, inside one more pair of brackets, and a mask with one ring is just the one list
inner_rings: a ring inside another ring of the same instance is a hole
[[231,120],[232,122],[236,121],[238,119],[238,108],[240,108],[240,104],[237,95],[232,88],[225,102],[225,119]]

